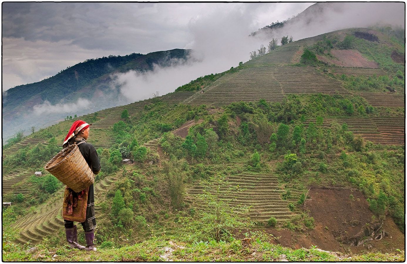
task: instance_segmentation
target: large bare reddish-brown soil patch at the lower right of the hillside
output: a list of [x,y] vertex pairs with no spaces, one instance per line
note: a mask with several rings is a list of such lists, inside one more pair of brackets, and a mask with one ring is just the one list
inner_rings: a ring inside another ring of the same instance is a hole
[[[349,198],[351,194],[353,199]],[[278,228],[262,229],[274,235],[275,244],[293,249],[316,245],[319,249],[346,253],[363,251],[384,253],[404,248],[405,236],[389,217],[385,219],[382,227],[387,236],[381,240],[372,240],[357,247],[350,247],[347,244],[342,246],[336,239],[337,233],[354,236],[367,223],[373,222],[368,202],[360,191],[312,188],[309,196],[311,199],[307,199],[305,209],[309,210],[309,215],[314,218],[315,228],[305,233]]]

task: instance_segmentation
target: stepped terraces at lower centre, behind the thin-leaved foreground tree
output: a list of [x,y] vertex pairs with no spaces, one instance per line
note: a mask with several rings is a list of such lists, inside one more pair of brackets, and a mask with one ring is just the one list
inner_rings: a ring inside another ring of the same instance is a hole
[[[290,202],[298,201],[298,196],[303,193],[302,190],[291,189],[291,199],[283,200],[282,194],[286,192],[279,186],[278,177],[272,173],[242,173],[232,175],[226,178],[228,188],[245,190],[241,192],[230,193],[228,190],[222,191],[222,197],[230,206],[248,205],[249,217],[254,221],[267,221],[270,217],[275,217],[278,222],[291,220],[298,212],[291,212],[287,207]],[[205,207],[194,198],[202,193],[202,186],[195,184],[188,190],[191,206],[198,210],[205,211]]]

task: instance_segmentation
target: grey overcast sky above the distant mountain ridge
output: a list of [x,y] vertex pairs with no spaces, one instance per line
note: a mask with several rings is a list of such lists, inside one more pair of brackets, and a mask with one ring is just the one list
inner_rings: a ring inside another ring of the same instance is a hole
[[217,35],[235,30],[248,35],[311,4],[6,2],[2,87],[41,81],[90,58],[197,48],[210,41],[210,35],[199,35],[206,29]]

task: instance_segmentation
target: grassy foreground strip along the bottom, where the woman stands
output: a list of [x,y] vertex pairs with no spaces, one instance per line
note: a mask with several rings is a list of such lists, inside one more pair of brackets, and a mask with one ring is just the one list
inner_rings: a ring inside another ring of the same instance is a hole
[[50,247],[47,240],[38,244],[29,252],[30,245],[24,247],[8,244],[3,250],[3,261],[279,261],[284,258],[292,261],[362,261],[362,262],[403,262],[404,251],[394,253],[365,253],[362,255],[345,255],[344,253],[328,252],[317,249],[289,249],[280,245],[262,241],[260,238],[252,239],[250,244],[242,240],[231,242],[194,242],[185,243],[178,240],[164,238],[151,238],[139,244],[121,248],[102,249],[97,252],[87,252],[77,249],[68,249],[67,246],[59,248]]

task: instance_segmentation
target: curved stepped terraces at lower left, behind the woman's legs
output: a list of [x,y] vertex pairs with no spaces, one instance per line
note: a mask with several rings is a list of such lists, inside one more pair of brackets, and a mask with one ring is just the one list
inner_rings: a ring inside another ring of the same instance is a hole
[[[106,189],[116,181],[117,176],[106,177],[105,179],[94,183],[95,191],[95,203],[97,203],[98,197],[101,197]],[[55,236],[59,233],[59,230],[63,229],[63,219],[62,219],[62,196],[63,189],[56,192],[47,203],[42,204],[37,211],[32,212],[20,218],[13,225],[15,229],[20,231],[20,238],[17,242],[25,244],[31,241],[31,244],[36,244],[42,241],[42,238],[47,236]],[[100,207],[95,207],[96,214],[98,213]],[[78,226],[78,230],[81,226]]]

